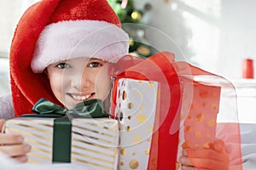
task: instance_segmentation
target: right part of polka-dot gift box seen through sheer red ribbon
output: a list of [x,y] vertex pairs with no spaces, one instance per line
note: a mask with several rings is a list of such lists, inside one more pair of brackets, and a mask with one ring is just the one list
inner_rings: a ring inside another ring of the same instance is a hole
[[217,139],[220,94],[220,86],[183,79],[177,169],[184,148],[210,149]]

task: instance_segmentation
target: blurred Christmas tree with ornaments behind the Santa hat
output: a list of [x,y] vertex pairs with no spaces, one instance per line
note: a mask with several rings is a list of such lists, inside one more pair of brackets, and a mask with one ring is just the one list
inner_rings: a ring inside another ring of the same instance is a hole
[[108,0],[115,13],[119,16],[123,29],[129,34],[129,53],[139,57],[152,55],[152,50],[147,44],[145,34],[145,23],[142,22],[143,14],[150,10],[150,4],[145,4],[143,10],[138,10],[134,6],[134,0],[127,0],[125,8],[122,7],[122,0]]

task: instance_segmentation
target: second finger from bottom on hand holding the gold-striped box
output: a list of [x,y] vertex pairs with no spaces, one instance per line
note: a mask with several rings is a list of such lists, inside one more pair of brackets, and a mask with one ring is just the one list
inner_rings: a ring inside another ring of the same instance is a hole
[[0,151],[8,156],[23,156],[31,150],[31,146],[28,144],[15,144],[15,145],[3,145],[0,146]]

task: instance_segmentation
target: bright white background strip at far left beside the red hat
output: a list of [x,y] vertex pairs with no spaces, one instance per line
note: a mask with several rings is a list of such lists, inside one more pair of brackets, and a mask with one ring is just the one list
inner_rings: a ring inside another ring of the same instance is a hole
[[0,96],[9,94],[9,48],[21,14],[38,0],[0,0]]

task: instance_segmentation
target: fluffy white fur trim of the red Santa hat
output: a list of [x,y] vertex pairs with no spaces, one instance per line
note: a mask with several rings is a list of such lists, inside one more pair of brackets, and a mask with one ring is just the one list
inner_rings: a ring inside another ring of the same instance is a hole
[[128,49],[129,36],[118,26],[98,20],[61,21],[41,32],[31,67],[40,73],[50,64],[78,57],[116,62]]

